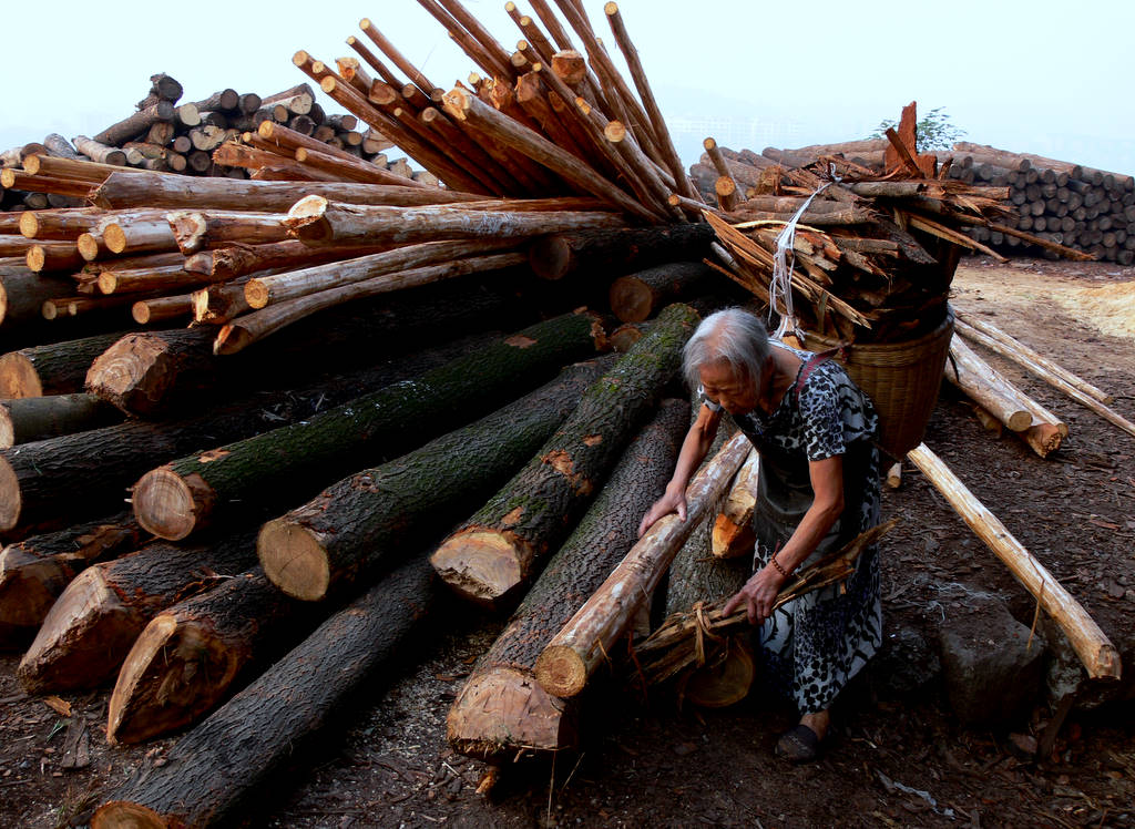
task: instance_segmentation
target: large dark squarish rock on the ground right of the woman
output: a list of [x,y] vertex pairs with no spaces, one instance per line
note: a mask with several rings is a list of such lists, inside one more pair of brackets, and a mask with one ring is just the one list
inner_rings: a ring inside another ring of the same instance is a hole
[[992,593],[955,586],[939,630],[942,677],[950,706],[966,725],[1008,722],[1028,712],[1044,684],[1046,644]]

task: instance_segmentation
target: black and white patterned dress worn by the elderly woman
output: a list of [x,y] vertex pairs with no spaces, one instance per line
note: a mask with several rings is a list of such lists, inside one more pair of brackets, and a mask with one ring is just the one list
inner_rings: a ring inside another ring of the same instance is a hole
[[[834,360],[789,350],[804,362],[776,411],[767,418],[758,411],[734,418],[760,453],[755,570],[784,546],[812,505],[809,461],[843,455],[844,508],[801,568],[878,524],[878,451],[873,442],[878,418],[871,400]],[[789,602],[762,626],[758,639],[768,679],[800,713],[827,709],[878,650],[878,554],[873,545],[860,554],[847,581]]]

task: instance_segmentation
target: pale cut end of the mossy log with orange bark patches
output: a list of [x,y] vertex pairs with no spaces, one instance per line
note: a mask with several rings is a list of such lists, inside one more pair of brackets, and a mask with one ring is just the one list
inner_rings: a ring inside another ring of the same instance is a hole
[[462,598],[496,608],[521,584],[516,545],[495,529],[473,528],[442,543],[430,563]]

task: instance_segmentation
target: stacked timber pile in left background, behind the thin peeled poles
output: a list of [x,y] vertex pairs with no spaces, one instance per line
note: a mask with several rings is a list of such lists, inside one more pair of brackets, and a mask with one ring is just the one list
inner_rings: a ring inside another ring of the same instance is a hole
[[[52,133],[42,142],[25,144],[0,153],[0,166],[12,170],[0,189],[0,208],[7,210],[48,207],[74,207],[79,195],[53,190],[30,190],[36,182],[24,162],[32,156],[49,156],[73,161],[91,160],[117,167],[200,176],[245,178],[239,165],[226,164],[213,150],[263,123],[279,124],[311,136],[320,144],[344,150],[358,158],[386,166],[382,151],[393,146],[386,136],[360,131],[359,119],[347,114],[328,114],[316,100],[311,86],[302,83],[261,98],[254,92],[241,94],[225,89],[208,98],[178,103],[183,86],[169,75],[150,78],[150,90],[137,102],[136,111],[99,132],[94,137],[77,135],[70,141]],[[415,175],[400,159],[390,165],[400,175]],[[417,174],[419,177],[421,173]]]

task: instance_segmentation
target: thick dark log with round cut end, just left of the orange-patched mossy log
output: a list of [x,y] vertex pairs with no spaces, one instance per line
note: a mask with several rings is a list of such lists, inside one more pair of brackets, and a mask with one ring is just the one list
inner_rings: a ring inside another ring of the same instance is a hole
[[468,516],[555,432],[611,360],[579,363],[504,409],[269,521],[257,539],[268,578],[291,596],[321,600],[365,578],[407,542]]

